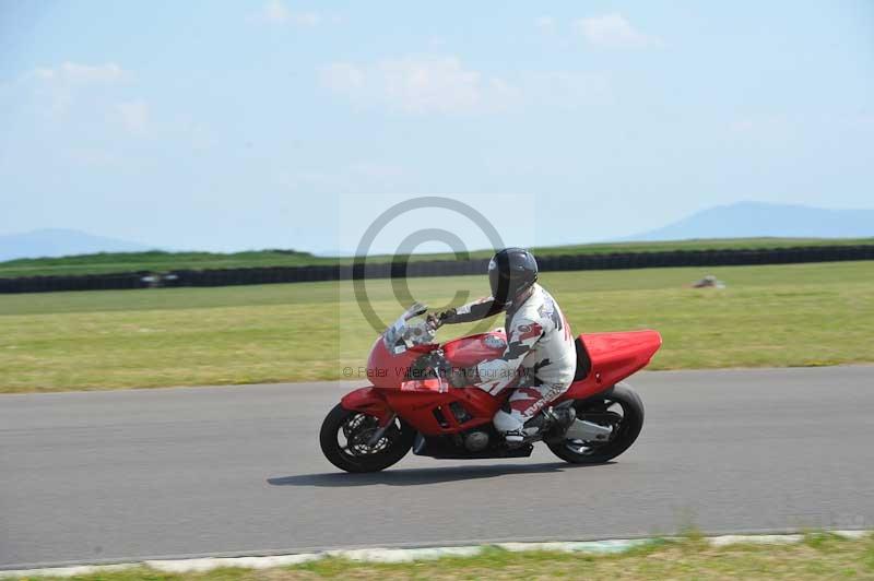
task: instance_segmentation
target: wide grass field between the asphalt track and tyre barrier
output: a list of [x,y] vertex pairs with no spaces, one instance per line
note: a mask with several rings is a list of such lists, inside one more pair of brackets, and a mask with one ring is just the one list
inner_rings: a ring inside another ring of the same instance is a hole
[[[694,289],[704,274],[724,289]],[[545,273],[576,333],[659,330],[651,369],[874,361],[874,262]],[[485,276],[413,278],[445,307]],[[385,318],[391,281],[368,283]],[[495,321],[500,324],[500,321]],[[440,339],[465,331],[446,327]],[[451,334],[450,334],[451,333]],[[0,296],[0,392],[341,379],[376,332],[347,283]]]

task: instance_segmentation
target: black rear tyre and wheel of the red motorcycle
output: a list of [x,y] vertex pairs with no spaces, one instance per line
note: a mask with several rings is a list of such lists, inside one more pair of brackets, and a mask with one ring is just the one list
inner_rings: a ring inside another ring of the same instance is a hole
[[616,383],[595,399],[575,402],[574,407],[578,419],[611,426],[613,434],[605,442],[546,442],[555,455],[571,464],[601,464],[613,460],[635,442],[643,427],[643,402],[627,383]]

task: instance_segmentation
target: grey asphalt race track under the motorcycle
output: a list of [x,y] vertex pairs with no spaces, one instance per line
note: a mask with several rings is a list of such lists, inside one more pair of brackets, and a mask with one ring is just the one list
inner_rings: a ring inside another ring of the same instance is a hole
[[0,568],[355,546],[874,527],[874,367],[633,378],[616,462],[322,459],[349,384],[0,396]]

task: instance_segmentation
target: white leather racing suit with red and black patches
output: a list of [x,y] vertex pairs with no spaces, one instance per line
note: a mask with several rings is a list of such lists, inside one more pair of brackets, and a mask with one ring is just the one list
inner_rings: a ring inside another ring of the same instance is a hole
[[[446,322],[468,322],[494,315],[500,308],[492,297],[456,309]],[[577,351],[574,334],[555,299],[539,284],[519,305],[507,309],[507,347],[497,359],[476,366],[475,386],[497,394],[519,380],[508,404],[495,414],[498,431],[519,432],[547,403],[574,381]]]

